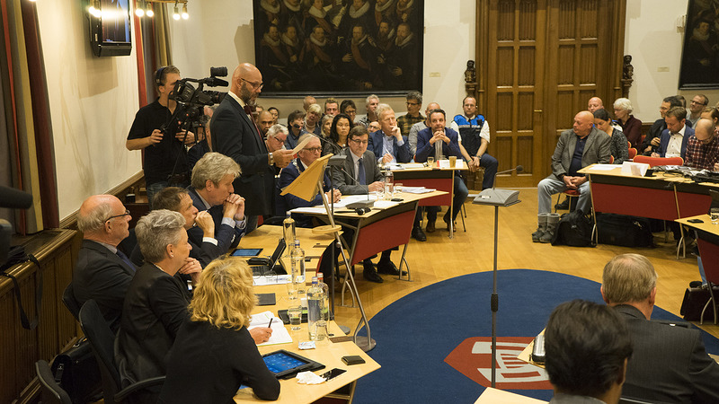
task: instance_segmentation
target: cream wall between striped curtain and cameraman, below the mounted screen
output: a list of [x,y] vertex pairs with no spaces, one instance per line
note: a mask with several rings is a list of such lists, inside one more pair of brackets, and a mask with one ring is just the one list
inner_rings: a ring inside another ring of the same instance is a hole
[[60,218],[141,170],[139,152],[125,148],[139,105],[135,50],[129,57],[94,57],[83,3],[36,3]]

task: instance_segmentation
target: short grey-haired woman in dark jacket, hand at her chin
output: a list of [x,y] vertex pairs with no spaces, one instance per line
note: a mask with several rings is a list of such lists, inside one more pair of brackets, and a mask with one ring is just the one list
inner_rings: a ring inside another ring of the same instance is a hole
[[[122,308],[115,348],[122,385],[167,371],[165,359],[190,303],[187,286],[175,275],[188,274],[196,283],[202,269],[190,258],[184,226],[182,214],[166,209],[148,213],[135,226],[145,265],[132,278]],[[142,402],[155,402],[159,390],[144,391]]]

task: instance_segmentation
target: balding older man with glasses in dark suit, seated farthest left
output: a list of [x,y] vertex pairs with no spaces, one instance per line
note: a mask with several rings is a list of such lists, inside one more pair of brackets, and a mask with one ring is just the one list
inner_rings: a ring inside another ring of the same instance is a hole
[[120,199],[111,195],[85,199],[77,214],[83,243],[73,274],[75,300],[80,306],[95,300],[113,330],[120,324],[122,303],[137,270],[117,249],[129,235],[131,218]]

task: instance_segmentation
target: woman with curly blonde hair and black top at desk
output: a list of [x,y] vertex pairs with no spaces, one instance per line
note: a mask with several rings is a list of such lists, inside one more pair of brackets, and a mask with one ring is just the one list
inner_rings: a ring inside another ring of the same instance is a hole
[[247,330],[255,302],[252,269],[244,259],[216,259],[202,271],[158,403],[232,403],[241,384],[262,400],[277,400],[280,382]]

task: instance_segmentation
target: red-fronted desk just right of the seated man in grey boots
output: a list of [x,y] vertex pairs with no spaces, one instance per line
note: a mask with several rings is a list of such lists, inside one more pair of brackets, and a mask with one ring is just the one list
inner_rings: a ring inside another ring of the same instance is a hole
[[[696,183],[688,178],[669,174],[636,177],[623,174],[619,165],[609,171],[595,170],[595,165],[592,164],[579,171],[589,177],[591,206],[595,213],[673,221],[680,217],[705,213],[711,204],[708,189],[716,186],[716,184]],[[596,215],[594,226],[596,230]],[[684,249],[684,230],[681,226],[679,229],[681,239],[677,246],[677,259],[679,259],[679,250]]]

